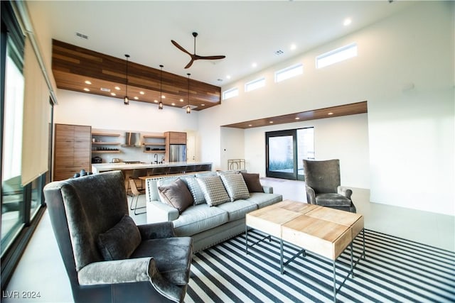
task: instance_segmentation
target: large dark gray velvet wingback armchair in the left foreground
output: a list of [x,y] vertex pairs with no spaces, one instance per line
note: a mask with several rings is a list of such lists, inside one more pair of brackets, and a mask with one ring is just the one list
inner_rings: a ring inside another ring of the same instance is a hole
[[134,224],[122,172],[52,182],[44,195],[75,302],[183,302],[193,240],[171,222]]

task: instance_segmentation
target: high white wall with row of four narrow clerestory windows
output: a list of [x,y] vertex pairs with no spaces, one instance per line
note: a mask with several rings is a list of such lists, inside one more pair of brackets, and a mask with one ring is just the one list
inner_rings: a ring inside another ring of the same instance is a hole
[[[358,57],[316,70],[316,55],[352,42],[358,43]],[[419,2],[223,87],[239,87],[240,94],[200,113],[203,160],[222,166],[222,144],[216,142],[223,142],[220,126],[225,124],[367,100],[369,144],[361,158],[369,152],[369,164],[353,167],[346,181],[355,184],[355,176],[369,175],[372,202],[454,215],[454,54],[454,3]],[[296,62],[303,62],[304,75],[275,84],[274,71]],[[266,87],[242,92],[245,82],[261,76]],[[250,144],[255,132],[245,131],[245,158],[252,169],[264,170],[257,145],[264,141]],[[346,148],[349,141],[341,144]]]

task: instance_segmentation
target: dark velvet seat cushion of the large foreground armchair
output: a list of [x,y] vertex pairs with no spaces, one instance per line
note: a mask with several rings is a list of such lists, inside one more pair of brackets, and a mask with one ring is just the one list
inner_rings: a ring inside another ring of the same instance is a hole
[[131,258],[152,256],[160,274],[175,285],[186,285],[190,275],[190,237],[157,238],[143,241]]

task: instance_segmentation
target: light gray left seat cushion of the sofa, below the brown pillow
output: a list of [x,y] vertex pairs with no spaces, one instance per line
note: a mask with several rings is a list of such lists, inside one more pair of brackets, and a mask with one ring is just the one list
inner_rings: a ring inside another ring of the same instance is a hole
[[172,223],[177,236],[192,236],[228,221],[227,211],[208,204],[198,204],[188,207]]

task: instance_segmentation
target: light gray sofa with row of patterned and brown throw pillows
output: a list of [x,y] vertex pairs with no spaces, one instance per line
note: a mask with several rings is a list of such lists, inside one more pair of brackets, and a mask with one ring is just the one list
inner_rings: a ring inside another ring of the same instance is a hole
[[262,186],[258,174],[246,172],[146,180],[147,223],[172,221],[176,236],[193,237],[194,253],[245,232],[245,214],[280,201],[282,195]]

